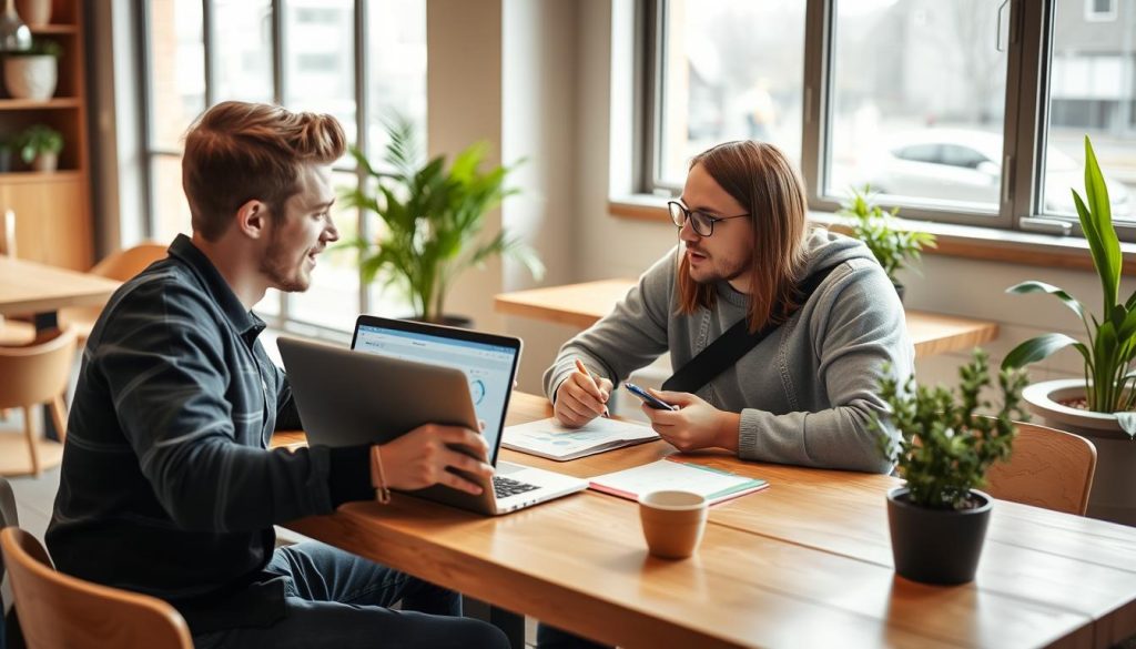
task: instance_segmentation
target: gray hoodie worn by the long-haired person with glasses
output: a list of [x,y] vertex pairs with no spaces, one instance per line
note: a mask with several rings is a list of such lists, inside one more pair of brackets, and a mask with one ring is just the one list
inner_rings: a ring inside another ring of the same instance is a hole
[[[805,275],[836,267],[801,309],[698,396],[742,414],[742,459],[886,473],[892,467],[869,422],[884,410],[877,394],[884,366],[901,378],[913,371],[903,306],[862,242],[816,230],[805,249]],[[746,296],[727,282],[718,282],[712,309],[678,314],[677,259],[673,249],[612,313],[560,348],[544,373],[550,399],[576,358],[618,385],[666,351],[682,367],[745,317]]]

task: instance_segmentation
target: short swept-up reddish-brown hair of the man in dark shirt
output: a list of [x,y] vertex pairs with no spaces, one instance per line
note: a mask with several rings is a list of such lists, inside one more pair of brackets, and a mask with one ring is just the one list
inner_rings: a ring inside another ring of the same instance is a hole
[[329,165],[344,151],[346,136],[331,115],[243,101],[214,106],[185,135],[182,186],[193,231],[216,241],[250,200],[278,218],[299,191],[300,166]]

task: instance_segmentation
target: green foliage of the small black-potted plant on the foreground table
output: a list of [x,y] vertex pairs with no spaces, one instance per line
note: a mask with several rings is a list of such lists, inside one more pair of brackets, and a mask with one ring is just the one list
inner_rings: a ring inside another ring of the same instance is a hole
[[916,385],[913,377],[902,386],[892,376],[879,383],[888,407],[884,419],[899,432],[893,439],[884,421],[874,418],[880,451],[907,481],[911,502],[921,507],[964,509],[970,490],[985,484],[986,469],[1010,457],[1017,434],[1014,419],[1028,419],[1021,409],[1027,383],[1024,372],[999,372],[1002,405],[992,416],[979,414],[993,408],[980,398],[982,390],[991,385],[987,353],[975,349],[971,360],[959,368],[959,376],[958,397],[942,385]]

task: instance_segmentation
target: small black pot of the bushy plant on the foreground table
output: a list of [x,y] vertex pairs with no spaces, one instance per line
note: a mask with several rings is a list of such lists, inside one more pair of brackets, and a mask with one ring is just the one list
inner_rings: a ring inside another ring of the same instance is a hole
[[970,490],[979,506],[972,509],[930,509],[908,500],[908,488],[887,492],[887,523],[892,531],[895,572],[914,582],[961,584],[974,581],[983,555],[991,497]]

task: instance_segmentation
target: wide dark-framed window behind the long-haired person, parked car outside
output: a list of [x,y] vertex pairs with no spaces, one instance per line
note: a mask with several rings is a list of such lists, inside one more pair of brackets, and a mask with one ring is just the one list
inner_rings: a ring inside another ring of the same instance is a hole
[[[641,191],[740,138],[810,208],[869,184],[902,215],[1077,233],[1084,135],[1136,241],[1136,8],[1116,0],[643,0]],[[655,38],[653,34],[658,34]],[[1041,101],[1035,100],[1041,98]],[[1028,218],[1027,218],[1028,217]]]

